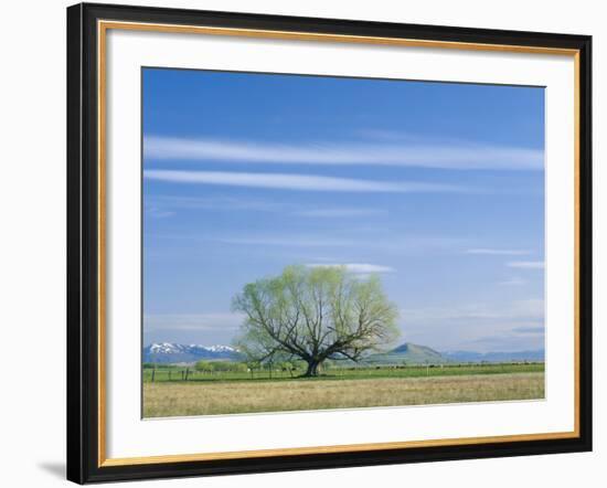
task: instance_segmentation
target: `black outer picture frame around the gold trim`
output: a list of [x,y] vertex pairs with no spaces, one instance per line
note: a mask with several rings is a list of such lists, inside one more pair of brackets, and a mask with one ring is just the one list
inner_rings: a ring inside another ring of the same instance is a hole
[[[578,436],[348,453],[99,464],[98,20],[576,50]],[[592,38],[451,26],[81,3],[67,9],[67,479],[78,482],[284,471],[592,450]]]

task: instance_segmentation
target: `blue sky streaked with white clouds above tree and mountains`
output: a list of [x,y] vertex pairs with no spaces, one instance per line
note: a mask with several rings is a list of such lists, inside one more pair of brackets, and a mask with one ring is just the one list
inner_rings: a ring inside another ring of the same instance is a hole
[[544,89],[143,68],[143,342],[230,343],[289,264],[379,273],[402,341],[544,343]]

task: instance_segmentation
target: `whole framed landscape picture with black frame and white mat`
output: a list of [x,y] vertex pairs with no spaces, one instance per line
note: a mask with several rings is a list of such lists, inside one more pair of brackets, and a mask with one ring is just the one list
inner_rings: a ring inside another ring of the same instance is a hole
[[68,8],[68,479],[590,450],[590,45]]

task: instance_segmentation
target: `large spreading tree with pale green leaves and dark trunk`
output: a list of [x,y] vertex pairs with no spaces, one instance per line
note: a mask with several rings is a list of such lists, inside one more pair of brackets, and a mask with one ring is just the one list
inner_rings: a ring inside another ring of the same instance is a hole
[[360,361],[398,337],[397,309],[380,278],[343,266],[289,266],[246,285],[233,309],[245,315],[236,340],[242,352],[257,361],[300,359],[306,376],[327,359]]

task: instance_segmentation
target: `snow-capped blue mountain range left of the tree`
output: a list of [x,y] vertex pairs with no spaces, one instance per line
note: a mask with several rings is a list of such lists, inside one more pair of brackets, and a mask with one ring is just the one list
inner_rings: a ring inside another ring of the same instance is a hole
[[143,348],[143,362],[194,362],[202,359],[237,360],[239,352],[231,346],[178,344],[153,342]]

